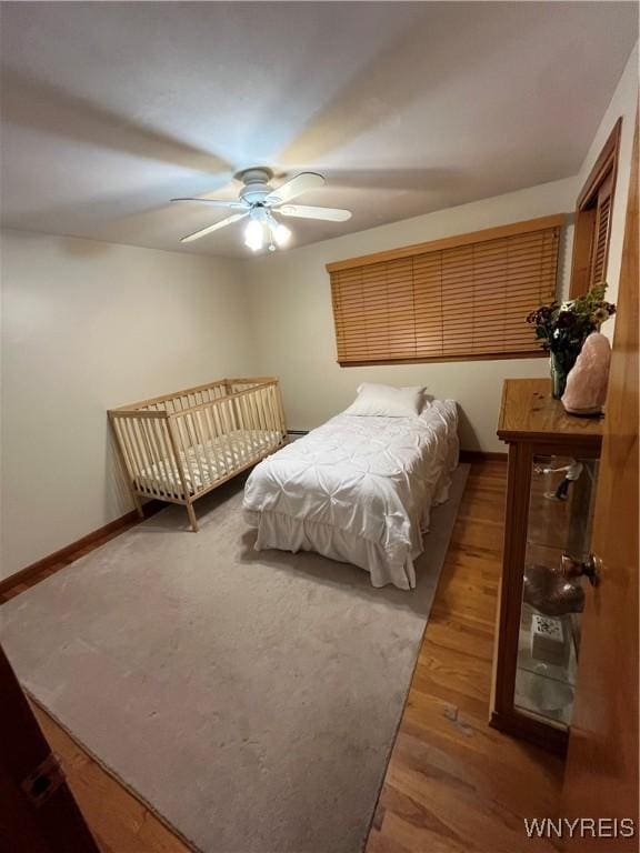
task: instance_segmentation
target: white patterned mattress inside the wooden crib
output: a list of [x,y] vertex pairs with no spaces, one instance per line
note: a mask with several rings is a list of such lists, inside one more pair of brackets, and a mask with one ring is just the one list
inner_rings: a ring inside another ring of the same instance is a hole
[[[234,430],[227,435],[194,444],[180,452],[180,462],[189,494],[214,485],[238,469],[279,446],[282,434],[272,430]],[[182,482],[174,461],[158,460],[136,479],[141,491],[182,495]]]

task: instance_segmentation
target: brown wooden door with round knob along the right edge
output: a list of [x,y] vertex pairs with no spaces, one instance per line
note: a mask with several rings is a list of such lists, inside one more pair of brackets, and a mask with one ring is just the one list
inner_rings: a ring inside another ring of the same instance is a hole
[[[638,120],[592,549],[600,584],[588,593],[559,815],[633,819],[634,836],[588,823],[566,850],[638,851]],[[616,834],[613,834],[616,833]],[[600,837],[598,837],[598,835]]]

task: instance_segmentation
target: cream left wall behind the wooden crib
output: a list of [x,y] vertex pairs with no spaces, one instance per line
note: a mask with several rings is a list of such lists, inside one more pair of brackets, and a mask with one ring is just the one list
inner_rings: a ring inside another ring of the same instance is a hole
[[17,231],[1,249],[6,576],[131,508],[107,409],[254,362],[237,262]]

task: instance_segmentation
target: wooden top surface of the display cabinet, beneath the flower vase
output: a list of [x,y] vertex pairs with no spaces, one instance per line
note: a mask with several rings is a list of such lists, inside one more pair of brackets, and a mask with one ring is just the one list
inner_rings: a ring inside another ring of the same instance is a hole
[[602,418],[567,414],[560,400],[551,397],[551,380],[504,380],[498,422],[498,436],[502,441],[551,441],[599,448],[602,429]]

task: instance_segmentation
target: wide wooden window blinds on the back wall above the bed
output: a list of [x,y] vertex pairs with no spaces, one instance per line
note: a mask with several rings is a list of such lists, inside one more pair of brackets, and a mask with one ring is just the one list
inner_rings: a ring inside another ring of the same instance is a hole
[[[327,265],[340,364],[540,355],[562,215]],[[543,353],[542,353],[543,354]]]

